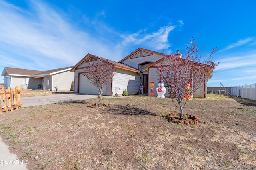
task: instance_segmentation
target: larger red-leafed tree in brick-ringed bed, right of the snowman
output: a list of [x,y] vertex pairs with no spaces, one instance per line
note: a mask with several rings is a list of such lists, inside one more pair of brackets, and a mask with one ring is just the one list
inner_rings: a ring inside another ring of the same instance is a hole
[[206,78],[212,76],[216,67],[212,59],[217,49],[212,49],[209,55],[202,55],[202,50],[198,50],[196,42],[189,42],[190,45],[184,53],[164,55],[164,60],[157,64],[158,78],[164,80],[165,86],[168,87],[172,102],[180,109],[180,117],[184,116],[183,110],[188,100],[198,88],[204,87]]

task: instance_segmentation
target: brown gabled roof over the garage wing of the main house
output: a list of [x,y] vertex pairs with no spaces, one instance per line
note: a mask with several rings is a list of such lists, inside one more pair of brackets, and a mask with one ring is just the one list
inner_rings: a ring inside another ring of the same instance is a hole
[[114,64],[114,67],[116,68],[121,68],[121,69],[124,69],[124,70],[129,70],[129,71],[132,71],[132,72],[140,72],[140,70],[136,69],[136,68],[133,68],[131,66],[128,66],[128,65],[125,65],[125,64],[122,64],[122,63],[118,63],[116,61],[112,61],[112,60],[109,60],[109,59],[105,59],[103,57],[99,57],[99,56],[96,56],[96,55],[92,55],[92,54],[87,54],[86,56],[84,56],[84,58],[82,60],[80,60],[70,71],[71,72],[74,72],[75,69],[80,65],[82,64],[88,57],[92,57],[94,59],[102,59],[104,61],[107,61],[108,63],[111,63],[111,64]]

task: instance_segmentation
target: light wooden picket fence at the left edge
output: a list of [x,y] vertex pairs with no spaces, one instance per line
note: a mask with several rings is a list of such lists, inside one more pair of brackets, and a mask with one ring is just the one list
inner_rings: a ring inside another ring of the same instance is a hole
[[3,87],[2,91],[0,92],[0,99],[0,114],[2,114],[4,111],[7,113],[8,110],[13,111],[14,109],[18,109],[22,106],[18,87],[8,87],[7,90],[5,87]]

